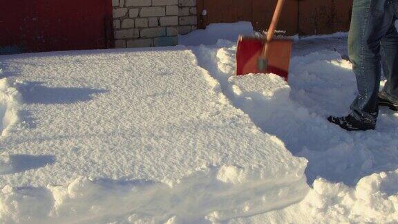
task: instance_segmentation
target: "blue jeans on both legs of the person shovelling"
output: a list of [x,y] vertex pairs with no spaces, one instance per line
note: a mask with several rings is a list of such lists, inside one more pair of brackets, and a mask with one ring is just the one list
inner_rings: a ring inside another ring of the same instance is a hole
[[376,123],[381,66],[387,78],[383,91],[398,102],[398,0],[354,0],[348,55],[357,77],[358,95],[351,104],[357,120]]

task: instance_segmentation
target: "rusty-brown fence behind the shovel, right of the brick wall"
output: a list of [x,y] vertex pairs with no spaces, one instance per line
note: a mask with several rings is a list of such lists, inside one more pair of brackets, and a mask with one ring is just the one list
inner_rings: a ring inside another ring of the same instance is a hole
[[[208,24],[252,21],[267,30],[277,0],[197,0],[198,28]],[[286,0],[278,30],[319,35],[348,31],[353,0]],[[206,10],[207,14],[202,15]]]

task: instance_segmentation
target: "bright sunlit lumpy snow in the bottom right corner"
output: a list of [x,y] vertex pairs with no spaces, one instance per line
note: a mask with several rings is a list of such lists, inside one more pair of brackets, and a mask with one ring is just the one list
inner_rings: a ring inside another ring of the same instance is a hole
[[396,223],[398,169],[362,178],[356,187],[318,178],[300,203],[229,223]]

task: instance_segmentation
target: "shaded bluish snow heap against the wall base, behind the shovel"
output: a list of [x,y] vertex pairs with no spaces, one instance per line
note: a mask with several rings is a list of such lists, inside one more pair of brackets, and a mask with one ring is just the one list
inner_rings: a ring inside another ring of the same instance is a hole
[[218,39],[236,42],[239,35],[253,35],[253,33],[252,23],[248,21],[231,24],[209,24],[205,30],[194,30],[187,35],[178,36],[178,44],[185,46],[214,45]]

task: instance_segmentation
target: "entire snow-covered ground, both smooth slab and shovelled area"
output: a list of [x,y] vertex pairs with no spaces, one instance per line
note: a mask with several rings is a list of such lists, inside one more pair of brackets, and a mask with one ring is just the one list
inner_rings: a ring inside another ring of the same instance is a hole
[[234,75],[251,30],[1,56],[0,223],[397,223],[398,115],[325,120],[356,93],[345,35],[296,37],[287,83]]

